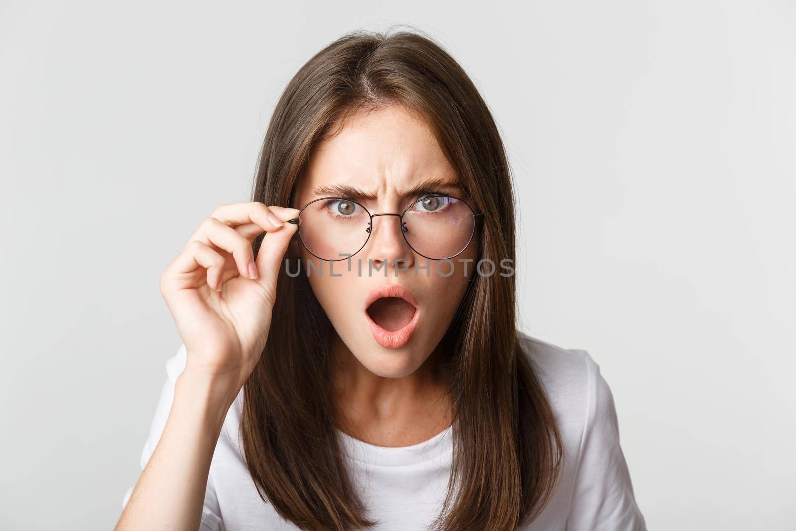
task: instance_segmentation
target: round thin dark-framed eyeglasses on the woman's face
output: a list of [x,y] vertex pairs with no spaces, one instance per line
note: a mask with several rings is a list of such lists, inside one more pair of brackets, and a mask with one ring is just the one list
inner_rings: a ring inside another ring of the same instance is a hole
[[414,252],[429,260],[447,260],[467,248],[475,232],[470,205],[457,197],[427,194],[400,214],[371,214],[364,206],[345,197],[320,197],[310,201],[295,220],[298,236],[316,258],[347,260],[368,243],[373,218],[398,218],[404,240]]

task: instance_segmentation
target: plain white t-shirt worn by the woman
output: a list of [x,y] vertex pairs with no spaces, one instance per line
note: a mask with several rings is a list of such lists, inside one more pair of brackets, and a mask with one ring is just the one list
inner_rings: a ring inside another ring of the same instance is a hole
[[[540,369],[564,443],[564,467],[556,493],[540,517],[521,531],[573,529],[646,531],[636,505],[622,448],[611,388],[584,350],[566,350],[520,335]],[[154,420],[141,455],[146,467],[166,425],[174,383],[185,369],[185,345],[166,361]],[[239,442],[243,392],[229,408],[210,465],[201,529],[299,529],[263,503],[244,464]],[[451,428],[411,447],[377,447],[342,431],[349,467],[376,531],[427,529],[439,512],[451,468]],[[123,506],[132,494],[127,490]]]

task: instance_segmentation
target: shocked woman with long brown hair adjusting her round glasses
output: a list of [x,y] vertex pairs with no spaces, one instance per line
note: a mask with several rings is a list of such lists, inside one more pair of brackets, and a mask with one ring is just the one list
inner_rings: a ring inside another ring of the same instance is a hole
[[598,365],[515,328],[513,207],[431,39],[313,57],[161,277],[183,345],[117,529],[645,529]]

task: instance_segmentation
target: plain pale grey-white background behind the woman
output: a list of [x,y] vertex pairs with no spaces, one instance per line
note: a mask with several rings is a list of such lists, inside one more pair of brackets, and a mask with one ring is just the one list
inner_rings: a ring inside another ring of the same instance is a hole
[[0,527],[115,524],[163,269],[304,62],[409,24],[494,112],[522,328],[601,366],[650,529],[794,529],[794,3],[289,3],[0,2]]

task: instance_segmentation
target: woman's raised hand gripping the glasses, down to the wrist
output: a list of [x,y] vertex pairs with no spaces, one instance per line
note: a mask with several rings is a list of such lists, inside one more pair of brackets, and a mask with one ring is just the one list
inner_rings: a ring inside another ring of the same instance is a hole
[[[220,205],[163,272],[160,290],[185,344],[186,376],[223,381],[234,399],[252,373],[296,230],[283,222],[298,213],[259,201]],[[255,258],[252,242],[263,232]]]

